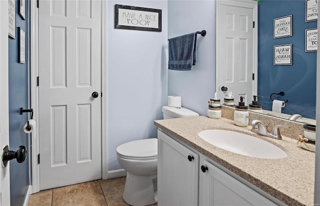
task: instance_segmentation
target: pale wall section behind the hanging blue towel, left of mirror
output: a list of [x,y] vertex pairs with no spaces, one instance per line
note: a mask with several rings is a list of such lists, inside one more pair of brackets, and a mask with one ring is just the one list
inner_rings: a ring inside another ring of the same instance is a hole
[[168,70],[168,95],[182,96],[182,106],[200,115],[215,91],[215,0],[168,0],[168,38],[197,35],[196,65],[190,71]]

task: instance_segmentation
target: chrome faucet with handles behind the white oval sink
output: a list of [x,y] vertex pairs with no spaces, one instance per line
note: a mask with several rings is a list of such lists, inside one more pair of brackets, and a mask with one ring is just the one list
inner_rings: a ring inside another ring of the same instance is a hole
[[268,136],[274,139],[282,139],[279,127],[285,127],[288,128],[288,126],[285,125],[275,125],[271,131],[268,131],[266,126],[262,123],[262,121],[258,119],[253,119],[250,124],[252,124],[251,131],[261,134],[263,136]]

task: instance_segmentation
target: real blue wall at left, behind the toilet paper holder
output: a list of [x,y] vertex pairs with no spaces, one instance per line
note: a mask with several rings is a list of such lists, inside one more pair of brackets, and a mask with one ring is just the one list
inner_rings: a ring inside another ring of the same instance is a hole
[[[19,1],[16,0],[15,39],[8,38],[9,46],[9,145],[10,150],[16,150],[20,145],[28,149],[28,135],[23,132],[23,125],[28,114],[20,115],[20,107],[28,107],[28,4],[25,1],[25,16],[22,20],[18,14]],[[25,31],[25,63],[18,63],[19,27]],[[23,205],[29,186],[29,157],[22,163],[15,159],[10,161],[10,202],[11,205]]]

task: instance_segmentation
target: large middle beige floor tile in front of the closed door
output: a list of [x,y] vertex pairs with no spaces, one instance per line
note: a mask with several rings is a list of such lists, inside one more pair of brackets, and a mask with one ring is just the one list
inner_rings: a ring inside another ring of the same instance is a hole
[[89,181],[53,189],[52,205],[106,205],[99,182]]

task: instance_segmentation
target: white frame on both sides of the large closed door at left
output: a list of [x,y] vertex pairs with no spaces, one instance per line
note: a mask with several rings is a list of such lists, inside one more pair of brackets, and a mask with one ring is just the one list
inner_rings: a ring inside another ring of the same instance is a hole
[[[101,0],[101,175],[102,179],[107,179],[107,2]],[[37,86],[38,66],[38,8],[34,0],[30,1],[30,82],[31,82],[31,108],[33,108],[33,119],[36,122],[37,132],[38,111],[39,111],[39,90]],[[7,21],[6,21],[7,22]],[[40,191],[40,166],[38,162],[39,136],[32,137],[32,193]]]

